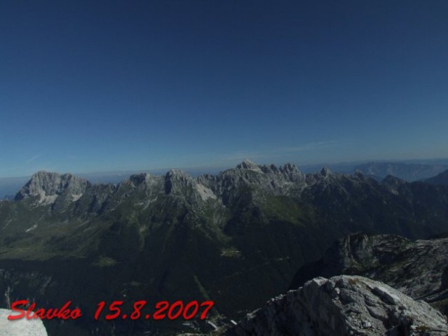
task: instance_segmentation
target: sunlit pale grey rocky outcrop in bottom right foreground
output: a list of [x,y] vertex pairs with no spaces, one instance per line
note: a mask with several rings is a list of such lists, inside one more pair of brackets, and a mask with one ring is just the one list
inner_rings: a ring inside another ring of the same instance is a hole
[[248,314],[228,335],[446,336],[446,318],[426,302],[362,276],[307,281]]

